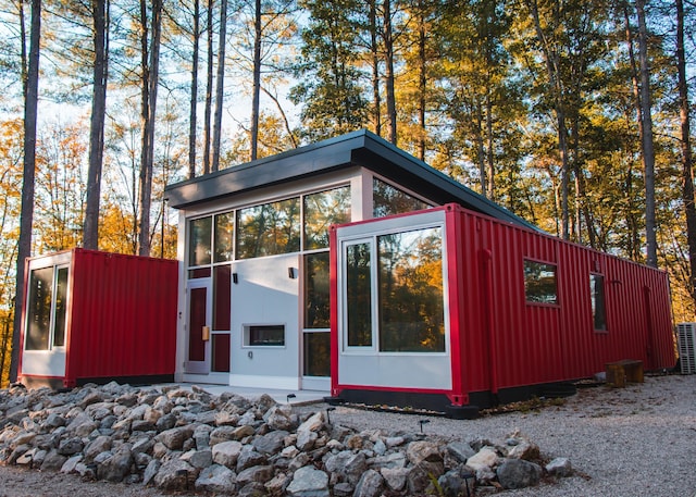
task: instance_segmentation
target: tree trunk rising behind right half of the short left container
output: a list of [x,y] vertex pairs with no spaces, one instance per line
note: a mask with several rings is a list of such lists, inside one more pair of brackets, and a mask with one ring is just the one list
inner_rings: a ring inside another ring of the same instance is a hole
[[[142,15],[142,149],[140,153],[140,229],[138,232],[138,253],[150,254],[150,207],[152,204],[152,170],[154,162],[154,116],[160,65],[160,38],[162,33],[162,0],[152,0],[152,36],[147,37],[147,8],[140,0]],[[148,61],[149,59],[149,61]]]

